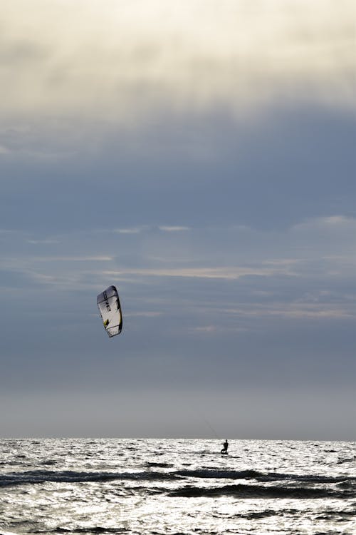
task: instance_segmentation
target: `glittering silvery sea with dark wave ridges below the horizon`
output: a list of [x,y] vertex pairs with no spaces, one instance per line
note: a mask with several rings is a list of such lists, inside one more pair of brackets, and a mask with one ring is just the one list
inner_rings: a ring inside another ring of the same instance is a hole
[[224,439],[1,439],[0,534],[356,534],[356,442]]

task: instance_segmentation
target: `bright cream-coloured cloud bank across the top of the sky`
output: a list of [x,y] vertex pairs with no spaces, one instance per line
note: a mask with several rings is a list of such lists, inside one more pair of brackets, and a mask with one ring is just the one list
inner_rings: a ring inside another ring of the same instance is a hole
[[130,129],[159,109],[245,114],[281,98],[355,107],[350,0],[3,4],[8,126],[85,117]]

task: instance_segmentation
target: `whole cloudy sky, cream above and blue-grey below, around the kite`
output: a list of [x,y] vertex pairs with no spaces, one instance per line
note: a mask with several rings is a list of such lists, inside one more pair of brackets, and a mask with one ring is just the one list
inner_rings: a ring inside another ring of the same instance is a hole
[[2,0],[1,437],[356,439],[355,21]]

